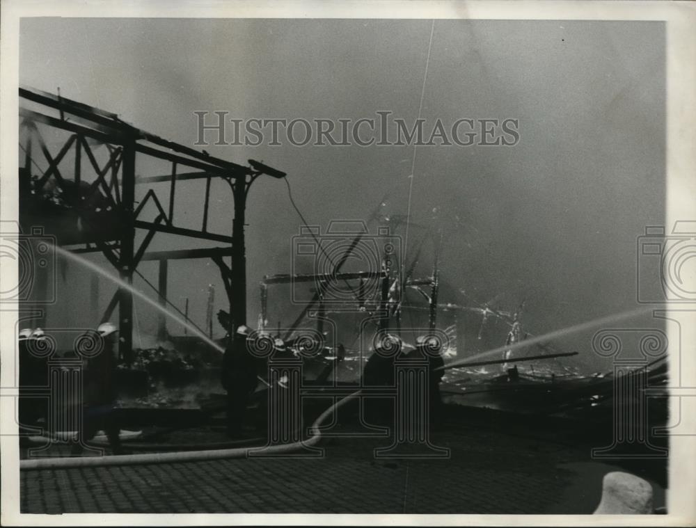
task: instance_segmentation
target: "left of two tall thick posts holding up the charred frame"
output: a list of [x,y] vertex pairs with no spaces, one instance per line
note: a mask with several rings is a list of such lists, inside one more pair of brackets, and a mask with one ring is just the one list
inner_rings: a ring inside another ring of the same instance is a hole
[[[118,271],[122,280],[133,282],[133,245],[135,238],[135,140],[128,138],[123,145],[121,198],[121,241]],[[130,366],[133,361],[133,295],[121,288],[118,298],[118,355]]]

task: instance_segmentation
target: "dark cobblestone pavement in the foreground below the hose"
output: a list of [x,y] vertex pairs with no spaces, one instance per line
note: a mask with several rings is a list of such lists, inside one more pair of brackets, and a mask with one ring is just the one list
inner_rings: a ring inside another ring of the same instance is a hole
[[[586,450],[478,429],[436,433],[445,460],[375,459],[388,439],[329,438],[322,458],[25,471],[23,513],[592,513],[569,500]],[[563,465],[563,467],[561,467]],[[594,495],[593,495],[594,494]]]

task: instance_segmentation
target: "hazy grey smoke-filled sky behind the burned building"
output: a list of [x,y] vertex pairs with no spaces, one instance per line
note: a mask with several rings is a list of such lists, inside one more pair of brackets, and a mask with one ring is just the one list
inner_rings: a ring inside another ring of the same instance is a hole
[[[418,147],[411,221],[419,225],[409,228],[406,246],[412,259],[425,237],[415,274],[431,271],[432,228],[439,226],[443,302],[495,299],[493,306],[514,310],[525,301],[523,323],[537,335],[635,309],[636,238],[644,226],[664,223],[664,25],[437,20],[422,92],[431,24],[24,19],[19,78],[52,93],[60,87],[65,97],[189,146],[196,141],[194,111],[287,120],[357,120],[390,111],[411,125],[421,93],[426,129],[438,118],[519,120],[514,146]],[[198,148],[237,163],[263,160],[286,172],[311,224],[367,218],[384,195],[391,214],[409,209],[412,145]],[[166,164],[136,168],[141,175],[168,170]],[[200,226],[204,186],[177,184],[181,227]],[[139,189],[140,198],[146,190]],[[167,199],[166,185],[158,192]],[[230,233],[225,182],[213,185],[211,212],[209,230]],[[270,177],[253,184],[246,221],[248,314],[255,326],[258,282],[290,272],[301,221],[285,183]],[[404,237],[404,226],[398,229]],[[151,248],[201,245],[158,234]],[[141,266],[154,284],[156,268],[154,262]],[[169,278],[171,301],[183,307],[188,297],[199,325],[209,283],[216,286],[215,310],[226,308],[212,262],[173,262]],[[139,278],[134,283],[149,291]],[[84,272],[66,271],[59,287],[68,310],[49,313],[53,325],[96,322]],[[112,293],[101,281],[100,312]],[[281,311],[274,290],[270,301],[272,323],[294,319],[296,310]],[[142,332],[152,333],[156,317],[144,305],[136,309]],[[173,326],[171,332],[180,333]],[[593,362],[587,334],[558,343]]]

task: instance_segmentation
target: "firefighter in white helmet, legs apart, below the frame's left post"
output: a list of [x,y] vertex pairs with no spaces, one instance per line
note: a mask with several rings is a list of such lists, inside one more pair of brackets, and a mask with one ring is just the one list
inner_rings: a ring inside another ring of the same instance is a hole
[[113,454],[122,454],[120,426],[115,408],[116,397],[116,333],[118,328],[112,323],[103,323],[97,328],[104,348],[94,358],[87,361],[84,370],[83,416],[78,442],[72,447],[72,454],[82,453],[84,445],[92,440],[97,431],[104,431],[109,439]]

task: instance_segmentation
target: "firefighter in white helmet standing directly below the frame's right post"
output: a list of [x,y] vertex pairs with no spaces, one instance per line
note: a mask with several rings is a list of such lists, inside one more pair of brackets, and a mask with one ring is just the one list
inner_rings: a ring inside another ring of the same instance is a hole
[[249,397],[258,385],[258,358],[248,350],[248,327],[237,328],[223,355],[221,383],[227,391],[227,434],[242,433]]

